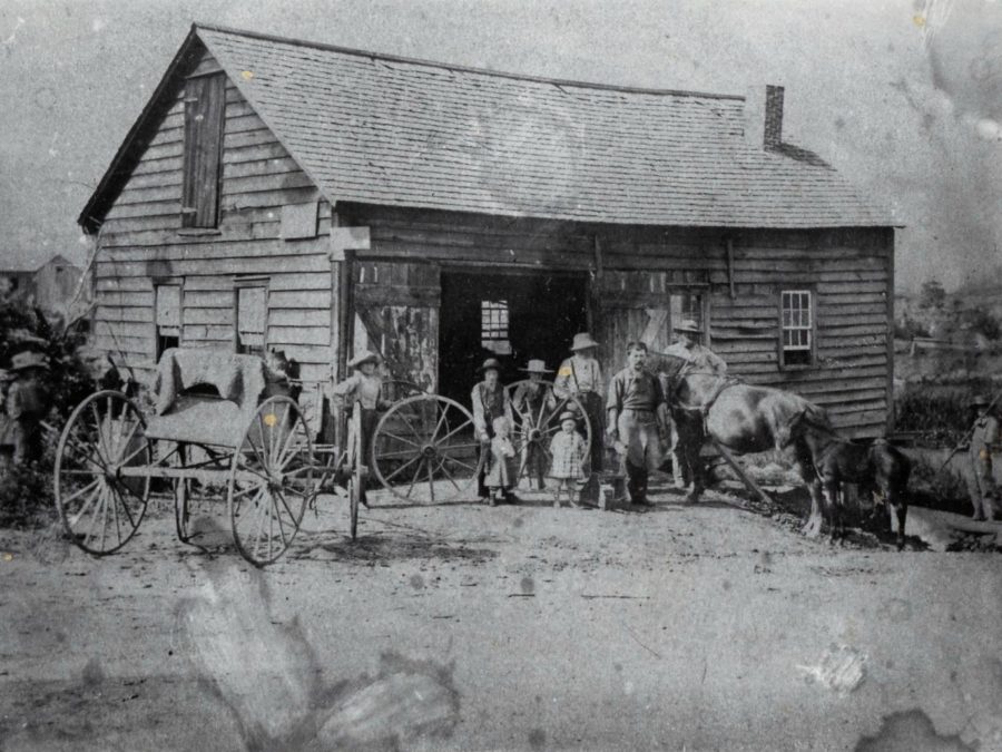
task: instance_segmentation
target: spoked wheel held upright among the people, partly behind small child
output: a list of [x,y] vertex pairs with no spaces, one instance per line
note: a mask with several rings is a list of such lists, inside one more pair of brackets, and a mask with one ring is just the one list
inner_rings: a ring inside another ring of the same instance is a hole
[[504,390],[511,400],[515,422],[512,443],[519,458],[518,486],[523,490],[531,490],[534,481],[536,487],[542,490],[553,459],[550,442],[560,431],[561,413],[574,413],[578,432],[584,437],[584,443],[590,448],[591,422],[588,413],[576,397],[557,397],[553,384],[549,381],[527,379],[508,384]]

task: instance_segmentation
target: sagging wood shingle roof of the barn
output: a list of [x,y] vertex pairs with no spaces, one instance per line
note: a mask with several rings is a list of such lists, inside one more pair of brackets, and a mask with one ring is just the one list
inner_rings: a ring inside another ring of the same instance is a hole
[[817,155],[754,148],[743,97],[194,33],[332,203],[644,225],[895,224]]

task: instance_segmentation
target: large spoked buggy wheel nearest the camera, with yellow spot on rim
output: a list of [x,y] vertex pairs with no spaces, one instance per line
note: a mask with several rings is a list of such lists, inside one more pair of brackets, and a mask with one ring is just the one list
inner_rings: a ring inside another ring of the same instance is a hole
[[313,445],[303,413],[287,397],[257,408],[233,453],[228,504],[237,550],[255,566],[277,559],[316,494]]

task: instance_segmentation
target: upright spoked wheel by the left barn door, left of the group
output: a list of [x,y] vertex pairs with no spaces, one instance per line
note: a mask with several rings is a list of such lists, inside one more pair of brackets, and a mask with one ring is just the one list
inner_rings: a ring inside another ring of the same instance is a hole
[[380,419],[372,446],[376,478],[397,499],[412,504],[461,498],[483,461],[473,416],[438,394],[395,403]]

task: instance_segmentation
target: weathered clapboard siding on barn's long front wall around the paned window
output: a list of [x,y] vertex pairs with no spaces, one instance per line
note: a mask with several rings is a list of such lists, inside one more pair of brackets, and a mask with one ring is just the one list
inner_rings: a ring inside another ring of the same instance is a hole
[[[352,206],[340,212],[348,224],[370,226],[372,248],[366,255],[386,260],[593,272],[598,246],[606,275],[600,296],[642,306],[656,303],[658,295],[667,304],[672,291],[709,295],[711,344],[734,373],[803,393],[824,404],[834,422],[853,434],[878,433],[886,422],[890,231],[610,231],[401,208]],[[792,289],[815,295],[815,364],[803,370],[779,364],[779,293]],[[647,319],[637,318],[641,320]]]

